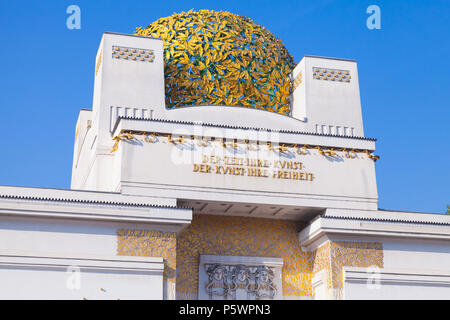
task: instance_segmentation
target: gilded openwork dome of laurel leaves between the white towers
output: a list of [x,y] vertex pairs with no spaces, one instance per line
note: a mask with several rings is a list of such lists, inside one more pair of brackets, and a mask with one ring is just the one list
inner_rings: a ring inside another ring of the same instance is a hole
[[224,11],[161,18],[136,34],[164,42],[166,105],[228,105],[289,114],[294,60],[251,19]]

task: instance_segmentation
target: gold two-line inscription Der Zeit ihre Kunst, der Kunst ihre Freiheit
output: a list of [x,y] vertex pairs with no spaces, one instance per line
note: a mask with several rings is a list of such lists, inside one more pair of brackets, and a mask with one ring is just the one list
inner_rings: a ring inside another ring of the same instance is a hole
[[234,176],[261,177],[313,181],[314,175],[305,172],[300,161],[262,160],[258,158],[202,156],[202,163],[194,163],[193,172]]

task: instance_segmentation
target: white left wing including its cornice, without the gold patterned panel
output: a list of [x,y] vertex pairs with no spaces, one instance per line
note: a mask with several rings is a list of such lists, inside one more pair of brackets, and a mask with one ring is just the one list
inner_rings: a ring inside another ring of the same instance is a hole
[[[163,258],[118,256],[117,230],[178,232],[190,210],[113,193],[0,187],[0,194],[0,299],[170,298]],[[66,285],[71,267],[81,271],[74,290]]]

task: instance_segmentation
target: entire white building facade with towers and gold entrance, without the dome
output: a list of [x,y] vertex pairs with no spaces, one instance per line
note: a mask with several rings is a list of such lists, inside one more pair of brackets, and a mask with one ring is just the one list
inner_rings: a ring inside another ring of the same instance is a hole
[[159,39],[95,66],[71,189],[0,187],[1,299],[450,298],[450,217],[378,209],[355,61],[305,56],[289,116],[166,108]]

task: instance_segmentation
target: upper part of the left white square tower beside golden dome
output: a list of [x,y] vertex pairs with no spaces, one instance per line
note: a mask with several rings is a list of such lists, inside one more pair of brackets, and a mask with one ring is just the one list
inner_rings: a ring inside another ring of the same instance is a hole
[[111,144],[111,117],[151,118],[164,109],[163,41],[104,33],[96,57],[92,115],[100,144]]

